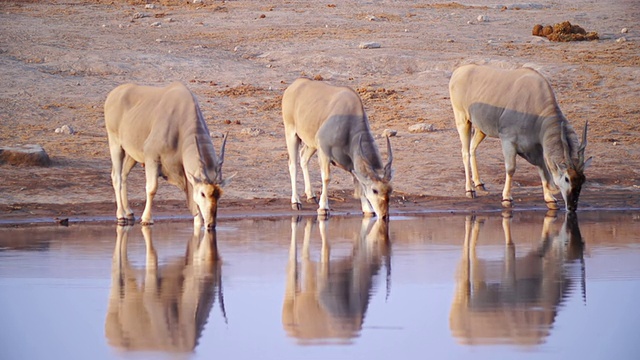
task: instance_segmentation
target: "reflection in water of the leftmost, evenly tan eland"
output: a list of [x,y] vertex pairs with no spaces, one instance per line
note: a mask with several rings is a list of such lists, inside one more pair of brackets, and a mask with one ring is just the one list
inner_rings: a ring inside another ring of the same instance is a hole
[[224,315],[215,230],[205,231],[202,239],[194,234],[185,256],[158,267],[151,227],[143,226],[146,266],[139,283],[127,258],[130,228],[117,228],[105,324],[109,344],[124,350],[193,351],[216,291]]

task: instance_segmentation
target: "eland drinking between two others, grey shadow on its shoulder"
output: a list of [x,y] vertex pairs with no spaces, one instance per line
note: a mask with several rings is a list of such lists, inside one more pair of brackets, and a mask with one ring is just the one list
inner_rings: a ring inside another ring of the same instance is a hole
[[388,161],[383,166],[364,106],[353,89],[299,78],[282,96],[282,117],[289,154],[291,206],[294,210],[302,208],[296,189],[296,153],[300,149],[300,167],[307,201],[316,200],[311,190],[308,163],[311,156],[318,152],[322,177],[319,215],[329,214],[329,165],[334,164],[352,174],[355,196],[360,198],[363,213],[366,216],[375,214],[381,219],[388,218],[392,191],[391,143],[387,137]]

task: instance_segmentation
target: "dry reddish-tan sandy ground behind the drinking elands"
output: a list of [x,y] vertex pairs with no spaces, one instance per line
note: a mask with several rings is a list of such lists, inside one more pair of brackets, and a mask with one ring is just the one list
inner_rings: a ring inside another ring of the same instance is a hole
[[[479,149],[490,193],[464,197],[447,84],[465,63],[528,64],[547,76],[578,134],[589,121],[587,156],[594,159],[580,209],[640,208],[638,19],[635,0],[3,0],[0,146],[40,144],[53,164],[0,165],[0,221],[115,218],[102,105],[126,82],[181,81],[198,97],[210,131],[229,133],[224,173],[238,175],[225,189],[220,217],[291,213],[280,99],[300,76],[357,89],[376,135],[397,131],[392,212],[499,211],[498,140]],[[600,40],[531,35],[535,24],[565,20]],[[363,42],[381,47],[360,49]],[[434,131],[409,132],[418,123]],[[75,133],[55,133],[63,125]],[[259,134],[243,134],[251,128]],[[220,143],[214,138],[216,148]],[[381,137],[378,144],[386,157]],[[311,165],[319,190],[316,161]],[[535,168],[523,159],[518,165],[516,208],[544,209]],[[130,178],[137,214],[143,171],[136,167]],[[330,189],[337,212],[358,212],[350,175],[334,169]],[[188,216],[183,198],[161,181],[156,214]],[[314,211],[307,205],[304,213]]]

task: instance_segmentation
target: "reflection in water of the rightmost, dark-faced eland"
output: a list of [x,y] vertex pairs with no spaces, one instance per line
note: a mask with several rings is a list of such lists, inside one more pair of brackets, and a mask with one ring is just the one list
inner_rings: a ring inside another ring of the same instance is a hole
[[[581,278],[584,291],[584,244],[578,219],[575,213],[568,213],[555,231],[553,220],[545,217],[539,247],[516,257],[511,219],[503,218],[504,259],[483,260],[476,257],[481,222],[467,217],[449,319],[451,332],[461,343],[542,343],[558,307],[577,286],[576,278]],[[579,265],[579,274],[572,274],[576,270],[572,263]]]

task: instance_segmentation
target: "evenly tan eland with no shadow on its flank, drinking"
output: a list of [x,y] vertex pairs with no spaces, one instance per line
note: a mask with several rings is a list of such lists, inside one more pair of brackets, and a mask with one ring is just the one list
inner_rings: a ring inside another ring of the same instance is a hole
[[182,189],[194,216],[194,228],[216,225],[218,199],[229,180],[222,179],[225,136],[220,157],[198,102],[181,83],[167,87],[125,84],[104,104],[119,224],[134,221],[127,199],[127,176],[136,163],[145,168],[146,204],[143,225],[153,224],[151,205],[158,177]]

